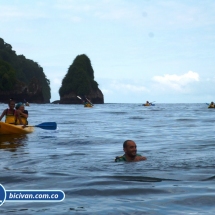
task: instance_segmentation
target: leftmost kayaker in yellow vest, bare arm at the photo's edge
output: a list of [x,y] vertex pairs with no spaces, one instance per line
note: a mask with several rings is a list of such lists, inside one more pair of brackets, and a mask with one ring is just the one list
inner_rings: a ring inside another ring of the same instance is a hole
[[2,114],[0,116],[0,121],[5,116],[5,123],[14,124],[15,123],[15,113],[16,113],[16,110],[14,109],[14,107],[15,107],[15,101],[13,99],[9,100],[8,107],[9,108],[5,109],[2,112]]

